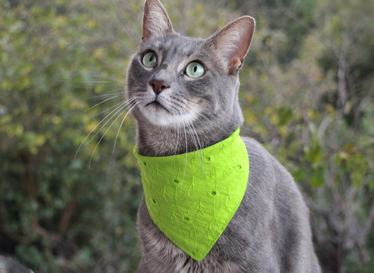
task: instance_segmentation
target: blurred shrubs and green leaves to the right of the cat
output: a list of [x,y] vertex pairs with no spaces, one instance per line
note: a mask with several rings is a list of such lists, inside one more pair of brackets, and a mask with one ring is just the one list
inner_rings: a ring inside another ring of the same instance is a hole
[[[373,227],[374,92],[373,66],[364,63],[373,61],[373,4],[314,1],[305,17],[308,1],[291,2],[275,1],[257,18],[251,66],[241,73],[246,125],[303,188],[331,272],[370,272],[363,261],[373,250],[363,238]],[[277,12],[291,20],[283,24]]]

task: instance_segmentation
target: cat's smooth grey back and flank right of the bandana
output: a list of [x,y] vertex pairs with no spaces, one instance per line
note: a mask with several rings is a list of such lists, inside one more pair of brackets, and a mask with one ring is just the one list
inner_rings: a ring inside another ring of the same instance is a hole
[[249,236],[266,238],[258,252],[262,254],[253,253],[254,260],[272,257],[272,264],[279,265],[272,268],[275,272],[321,272],[312,246],[309,209],[293,177],[258,141],[242,139],[250,172],[232,224],[248,221]]

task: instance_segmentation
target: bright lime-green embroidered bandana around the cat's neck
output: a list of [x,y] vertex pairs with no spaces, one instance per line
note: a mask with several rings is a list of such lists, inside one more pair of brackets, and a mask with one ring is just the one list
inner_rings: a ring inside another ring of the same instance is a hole
[[187,154],[146,157],[135,147],[134,155],[152,221],[182,251],[203,260],[246,191],[249,162],[239,129]]

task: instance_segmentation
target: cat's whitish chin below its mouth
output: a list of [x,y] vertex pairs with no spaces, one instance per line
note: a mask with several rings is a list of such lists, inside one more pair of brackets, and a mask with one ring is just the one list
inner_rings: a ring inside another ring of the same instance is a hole
[[196,113],[183,113],[182,115],[172,113],[159,102],[152,102],[140,107],[140,112],[152,125],[163,127],[178,128],[190,126],[197,118]]

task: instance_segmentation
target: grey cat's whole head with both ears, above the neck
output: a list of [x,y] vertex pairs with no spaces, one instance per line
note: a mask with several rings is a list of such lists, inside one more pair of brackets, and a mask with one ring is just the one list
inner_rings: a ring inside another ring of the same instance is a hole
[[235,130],[242,122],[238,72],[255,20],[244,16],[213,36],[181,36],[159,0],[145,2],[142,41],[128,68],[138,127],[160,132]]

